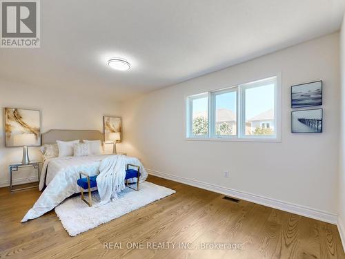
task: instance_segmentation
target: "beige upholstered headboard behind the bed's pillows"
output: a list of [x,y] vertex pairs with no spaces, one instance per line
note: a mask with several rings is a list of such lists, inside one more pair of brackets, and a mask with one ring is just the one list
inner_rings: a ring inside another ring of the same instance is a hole
[[100,131],[88,130],[50,130],[42,134],[42,145],[52,144],[57,140],[101,140],[103,142],[103,134]]

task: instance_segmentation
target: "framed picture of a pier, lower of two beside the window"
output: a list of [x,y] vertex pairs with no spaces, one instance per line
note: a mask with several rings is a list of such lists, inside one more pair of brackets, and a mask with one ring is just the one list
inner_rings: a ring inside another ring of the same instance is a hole
[[322,133],[323,110],[299,110],[291,112],[292,133]]

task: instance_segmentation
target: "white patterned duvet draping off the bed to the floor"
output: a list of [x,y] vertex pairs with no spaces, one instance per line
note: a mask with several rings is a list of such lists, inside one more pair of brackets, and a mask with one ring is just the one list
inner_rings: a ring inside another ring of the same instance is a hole
[[[79,172],[83,171],[90,176],[99,174],[99,165],[101,160],[109,155],[93,155],[87,157],[55,157],[46,160],[43,163],[39,190],[44,186],[43,191],[32,209],[30,209],[21,222],[26,222],[38,218],[44,213],[54,209],[58,204],[74,193],[80,193],[80,187],[77,185]],[[135,164],[141,166],[140,182],[144,182],[148,177],[144,166],[135,157],[125,157],[126,164]],[[136,182],[133,178],[128,182]]]

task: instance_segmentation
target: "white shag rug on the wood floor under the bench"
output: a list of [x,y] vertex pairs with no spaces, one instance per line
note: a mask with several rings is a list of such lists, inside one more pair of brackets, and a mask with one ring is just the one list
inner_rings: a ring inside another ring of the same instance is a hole
[[[68,198],[55,207],[55,213],[57,213],[68,234],[77,236],[79,233],[119,218],[121,215],[144,207],[175,192],[164,186],[152,184],[152,182],[143,182],[139,186],[139,191],[126,187],[124,191],[119,193],[119,199],[99,207],[95,206],[100,200],[97,191],[92,193],[92,207],[88,207],[88,204],[81,200],[80,195]],[[85,198],[88,199],[87,193],[85,194]]]

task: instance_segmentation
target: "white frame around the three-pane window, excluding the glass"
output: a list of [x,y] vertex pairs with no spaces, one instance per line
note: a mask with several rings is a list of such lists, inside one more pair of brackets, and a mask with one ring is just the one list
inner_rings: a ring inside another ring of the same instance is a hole
[[[268,80],[275,82],[275,118],[273,125],[275,135],[246,135],[246,117],[245,117],[245,90],[248,88],[267,85]],[[215,134],[215,97],[216,95],[236,91],[236,135],[216,135]],[[208,97],[208,135],[193,135],[193,99]],[[259,80],[253,80],[245,84],[237,84],[228,88],[212,90],[206,93],[186,96],[186,140],[206,140],[206,141],[244,141],[244,142],[281,142],[281,73],[265,77]]]

